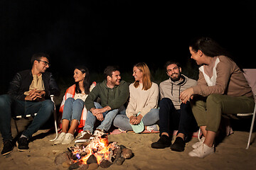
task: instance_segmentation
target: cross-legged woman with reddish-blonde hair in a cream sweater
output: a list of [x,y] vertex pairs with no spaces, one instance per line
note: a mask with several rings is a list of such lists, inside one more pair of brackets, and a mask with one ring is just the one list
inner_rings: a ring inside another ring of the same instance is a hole
[[129,103],[126,115],[117,115],[114,126],[121,130],[159,130],[159,86],[151,81],[149,67],[139,62],[133,67],[134,83],[129,85]]

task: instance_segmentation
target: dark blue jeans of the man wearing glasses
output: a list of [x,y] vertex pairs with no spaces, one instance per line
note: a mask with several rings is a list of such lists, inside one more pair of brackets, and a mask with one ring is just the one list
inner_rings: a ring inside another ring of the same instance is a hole
[[11,117],[16,115],[27,115],[37,113],[31,125],[23,131],[23,135],[31,138],[39,130],[41,125],[46,123],[53,113],[54,103],[46,101],[19,101],[8,94],[0,96],[0,131],[3,140],[12,140]]

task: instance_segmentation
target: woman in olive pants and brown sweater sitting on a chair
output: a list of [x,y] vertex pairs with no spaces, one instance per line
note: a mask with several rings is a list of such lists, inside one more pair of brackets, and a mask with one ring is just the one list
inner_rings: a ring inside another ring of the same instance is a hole
[[221,114],[250,113],[255,102],[241,69],[217,42],[198,38],[191,43],[189,51],[201,66],[199,79],[198,84],[183,91],[180,98],[184,103],[193,98],[191,108],[204,137],[192,146],[189,155],[203,158],[214,152]]

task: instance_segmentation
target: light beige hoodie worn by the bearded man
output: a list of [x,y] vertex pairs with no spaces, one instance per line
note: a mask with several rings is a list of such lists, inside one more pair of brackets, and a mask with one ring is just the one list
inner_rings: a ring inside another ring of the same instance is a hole
[[170,98],[176,110],[179,110],[181,106],[181,92],[192,86],[196,86],[196,80],[189,79],[183,74],[181,74],[181,78],[182,80],[180,81],[171,81],[171,78],[169,78],[166,81],[162,81],[159,85],[160,98]]

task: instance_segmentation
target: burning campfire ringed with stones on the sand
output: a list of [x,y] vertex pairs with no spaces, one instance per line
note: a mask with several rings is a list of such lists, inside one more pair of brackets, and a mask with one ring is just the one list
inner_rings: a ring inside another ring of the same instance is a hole
[[[69,147],[68,152],[58,154],[55,164],[62,164],[69,169],[85,169],[88,166],[107,168],[112,164],[121,165],[124,159],[133,156],[132,150],[117,145],[117,142],[109,143],[106,134],[98,134],[94,139]],[[90,169],[92,169],[90,167]]]

